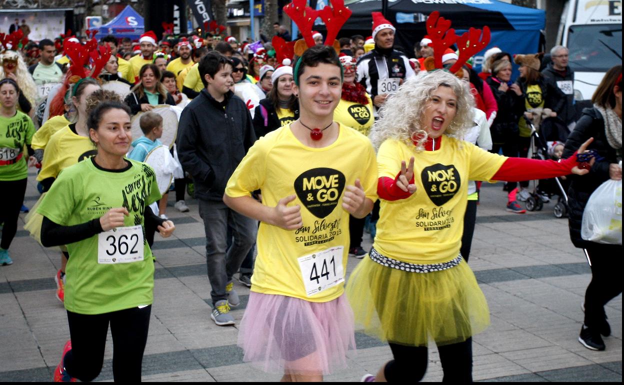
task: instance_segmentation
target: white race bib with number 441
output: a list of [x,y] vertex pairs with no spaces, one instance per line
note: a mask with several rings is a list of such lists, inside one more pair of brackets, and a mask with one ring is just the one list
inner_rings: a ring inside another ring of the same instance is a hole
[[337,246],[297,258],[308,296],[344,282],[343,251],[343,246]]

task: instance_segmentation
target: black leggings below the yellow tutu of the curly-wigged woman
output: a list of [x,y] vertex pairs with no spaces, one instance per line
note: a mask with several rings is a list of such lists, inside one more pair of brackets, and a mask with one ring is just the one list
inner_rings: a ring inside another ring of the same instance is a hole
[[[421,381],[427,371],[427,347],[390,343],[394,359],[386,364],[384,376],[389,383]],[[444,372],[443,382],[472,383],[472,338],[438,346]]]

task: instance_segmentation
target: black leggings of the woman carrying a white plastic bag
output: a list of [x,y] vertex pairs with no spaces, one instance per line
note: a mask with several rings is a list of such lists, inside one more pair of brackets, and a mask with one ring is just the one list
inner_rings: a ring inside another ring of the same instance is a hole
[[586,250],[592,261],[592,281],[585,291],[585,324],[595,328],[605,321],[608,301],[622,293],[622,246],[593,243]]

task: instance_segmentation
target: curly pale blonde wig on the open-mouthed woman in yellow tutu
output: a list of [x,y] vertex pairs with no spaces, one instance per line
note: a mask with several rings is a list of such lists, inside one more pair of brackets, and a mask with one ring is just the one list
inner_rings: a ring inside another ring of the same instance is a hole
[[401,140],[412,145],[412,139],[419,138],[416,150],[424,150],[427,132],[422,115],[431,95],[438,87],[450,87],[457,99],[457,112],[444,135],[462,139],[472,124],[472,105],[474,100],[470,92],[454,74],[446,71],[421,72],[407,80],[395,95],[389,97],[379,110],[381,119],[373,125],[369,137],[376,149],[386,139]]

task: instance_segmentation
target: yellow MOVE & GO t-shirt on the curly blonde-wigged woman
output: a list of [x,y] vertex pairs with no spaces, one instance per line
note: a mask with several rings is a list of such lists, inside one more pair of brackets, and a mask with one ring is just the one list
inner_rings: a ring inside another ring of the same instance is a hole
[[416,192],[395,201],[381,200],[374,248],[407,263],[444,263],[459,255],[468,183],[490,181],[507,159],[469,142],[442,137],[436,151],[389,139],[377,153],[379,177],[394,179],[401,161],[414,157]]

